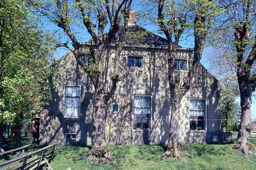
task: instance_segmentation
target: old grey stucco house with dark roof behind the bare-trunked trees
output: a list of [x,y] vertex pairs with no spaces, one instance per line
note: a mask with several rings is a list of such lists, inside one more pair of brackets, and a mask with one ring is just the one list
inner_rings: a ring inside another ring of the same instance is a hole
[[[170,126],[167,40],[136,25],[129,24],[129,39],[118,58],[121,81],[108,103],[106,142],[109,145],[164,144]],[[138,36],[139,35],[139,36]],[[135,37],[135,38],[133,38]],[[114,67],[114,40],[108,46],[105,65],[106,86],[111,85]],[[81,52],[87,49],[83,44]],[[175,74],[181,79],[192,62],[191,49],[177,49]],[[86,58],[86,56],[84,56]],[[88,64],[88,58],[85,59]],[[51,99],[40,114],[41,144],[93,144],[92,84],[72,53],[52,66]],[[221,133],[218,81],[203,65],[197,68],[192,87],[180,103],[180,140],[202,143]]]

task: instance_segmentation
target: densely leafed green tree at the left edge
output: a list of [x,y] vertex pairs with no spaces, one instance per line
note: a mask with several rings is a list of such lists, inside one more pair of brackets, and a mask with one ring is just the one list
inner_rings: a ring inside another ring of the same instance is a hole
[[0,147],[3,147],[5,126],[18,126],[19,132],[23,123],[29,124],[43,107],[51,50],[46,43],[47,35],[37,27],[32,11],[27,10],[23,1],[0,1],[0,10]]

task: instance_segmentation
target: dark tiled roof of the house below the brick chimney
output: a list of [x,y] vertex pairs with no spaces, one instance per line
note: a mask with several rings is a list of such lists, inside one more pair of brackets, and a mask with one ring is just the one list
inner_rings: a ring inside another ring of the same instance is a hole
[[[119,37],[121,41],[124,39],[125,31],[121,29],[119,32]],[[92,43],[92,39],[89,40]],[[115,37],[110,41],[110,45],[115,44]],[[139,25],[132,25],[127,27],[127,40],[126,46],[149,46],[156,48],[167,48],[167,39],[160,37]],[[181,48],[181,46],[179,46]]]

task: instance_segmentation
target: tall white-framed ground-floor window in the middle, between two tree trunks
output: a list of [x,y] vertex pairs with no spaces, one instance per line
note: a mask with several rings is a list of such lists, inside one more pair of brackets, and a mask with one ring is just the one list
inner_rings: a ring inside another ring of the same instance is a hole
[[133,129],[150,129],[151,97],[134,96]]

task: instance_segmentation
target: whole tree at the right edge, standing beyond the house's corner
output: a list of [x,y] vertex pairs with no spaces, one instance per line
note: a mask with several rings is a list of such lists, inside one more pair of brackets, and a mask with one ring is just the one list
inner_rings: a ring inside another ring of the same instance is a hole
[[[255,1],[228,0],[220,1],[225,8],[218,25],[218,47],[231,49],[232,60],[237,75],[240,91],[241,124],[236,148],[248,154],[254,151],[249,145],[248,137],[253,124],[251,122],[251,95],[256,87],[256,34],[255,34]],[[229,28],[229,29],[227,29]],[[230,31],[228,31],[230,30]],[[231,36],[227,36],[231,35]],[[226,41],[228,37],[229,41]]]

